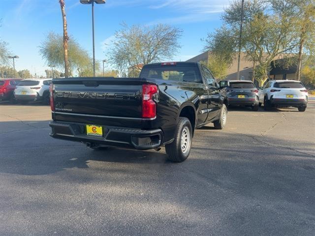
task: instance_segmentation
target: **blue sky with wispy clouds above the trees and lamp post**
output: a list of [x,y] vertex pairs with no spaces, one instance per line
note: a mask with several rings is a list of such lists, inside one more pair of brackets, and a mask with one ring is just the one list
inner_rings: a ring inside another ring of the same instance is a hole
[[[204,47],[201,38],[221,26],[220,19],[229,0],[107,0],[95,4],[95,58],[106,58],[106,46],[121,23],[127,25],[170,24],[183,29],[182,48],[174,60],[198,55]],[[92,55],[91,5],[65,0],[68,33]],[[0,0],[0,38],[20,59],[16,69],[29,69],[44,75],[47,64],[38,53],[48,32],[62,34],[58,0]],[[108,67],[109,68],[109,67]]]

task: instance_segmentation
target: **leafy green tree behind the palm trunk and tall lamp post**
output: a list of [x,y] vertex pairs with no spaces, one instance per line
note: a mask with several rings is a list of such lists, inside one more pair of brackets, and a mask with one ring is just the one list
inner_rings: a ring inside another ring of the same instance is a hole
[[[63,36],[50,32],[39,46],[39,53],[47,64],[64,69]],[[79,76],[93,76],[92,58],[72,37],[68,41],[69,75],[77,72]],[[99,63],[96,63],[99,68]],[[91,73],[92,71],[92,73]]]

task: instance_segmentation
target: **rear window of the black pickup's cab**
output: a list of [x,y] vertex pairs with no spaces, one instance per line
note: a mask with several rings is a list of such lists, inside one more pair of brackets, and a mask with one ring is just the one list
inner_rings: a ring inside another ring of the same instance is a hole
[[148,66],[142,69],[140,77],[202,83],[198,68],[193,66]]

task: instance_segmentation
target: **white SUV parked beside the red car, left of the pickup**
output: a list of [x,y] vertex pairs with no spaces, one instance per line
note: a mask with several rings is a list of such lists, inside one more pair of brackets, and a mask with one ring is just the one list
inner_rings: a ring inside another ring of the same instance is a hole
[[14,90],[17,102],[42,101],[49,104],[49,85],[51,79],[26,79],[20,81]]

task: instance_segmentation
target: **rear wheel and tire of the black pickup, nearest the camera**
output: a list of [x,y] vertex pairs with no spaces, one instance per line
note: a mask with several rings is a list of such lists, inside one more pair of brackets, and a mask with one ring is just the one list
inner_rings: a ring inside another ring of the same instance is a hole
[[168,159],[174,162],[183,162],[189,156],[192,141],[192,127],[188,118],[180,117],[175,139],[171,144],[165,145]]

